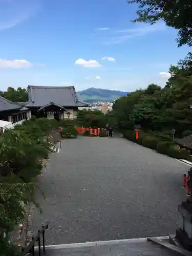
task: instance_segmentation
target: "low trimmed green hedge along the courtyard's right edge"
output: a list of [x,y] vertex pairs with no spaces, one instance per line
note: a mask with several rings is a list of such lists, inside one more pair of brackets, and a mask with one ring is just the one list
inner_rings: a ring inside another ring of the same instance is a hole
[[179,159],[190,159],[190,152],[186,150],[186,148],[180,148],[179,145],[172,141],[164,141],[161,138],[145,134],[142,131],[139,132],[139,138],[136,140],[135,131],[126,130],[123,131],[123,138],[134,141],[140,145],[152,148],[152,150],[156,150],[157,152]]

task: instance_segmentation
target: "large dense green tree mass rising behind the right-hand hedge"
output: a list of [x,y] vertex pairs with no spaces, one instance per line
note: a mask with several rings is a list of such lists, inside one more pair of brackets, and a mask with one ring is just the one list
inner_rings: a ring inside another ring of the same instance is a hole
[[178,66],[170,66],[170,78],[161,88],[150,84],[145,90],[137,90],[119,98],[113,113],[121,129],[134,129],[140,124],[143,130],[171,133],[182,137],[192,133],[192,60],[191,53]]

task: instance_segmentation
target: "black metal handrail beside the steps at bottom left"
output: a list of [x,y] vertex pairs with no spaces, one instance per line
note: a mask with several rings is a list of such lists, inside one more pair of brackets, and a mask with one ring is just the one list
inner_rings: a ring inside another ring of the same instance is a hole
[[40,236],[42,234],[42,252],[45,253],[45,230],[48,228],[48,225],[42,226],[41,230],[38,230],[37,235],[32,237],[32,241],[28,244],[26,248],[23,248],[22,255],[26,256],[28,253],[31,253],[32,256],[35,256],[35,242],[38,242],[38,256],[41,255],[41,239]]

